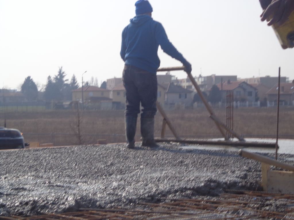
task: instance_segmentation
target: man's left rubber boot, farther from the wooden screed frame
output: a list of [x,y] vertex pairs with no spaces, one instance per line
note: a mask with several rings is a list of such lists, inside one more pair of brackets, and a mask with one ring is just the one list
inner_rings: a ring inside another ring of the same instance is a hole
[[125,131],[127,148],[135,148],[135,134],[137,128],[137,117],[125,116]]

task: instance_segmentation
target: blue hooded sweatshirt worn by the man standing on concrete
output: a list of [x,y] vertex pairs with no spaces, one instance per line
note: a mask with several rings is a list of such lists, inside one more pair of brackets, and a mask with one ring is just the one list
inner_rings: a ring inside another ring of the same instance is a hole
[[151,16],[137,15],[123,29],[121,58],[126,65],[133,65],[142,70],[155,73],[160,66],[158,46],[171,57],[185,64],[187,61],[168,40],[161,23]]

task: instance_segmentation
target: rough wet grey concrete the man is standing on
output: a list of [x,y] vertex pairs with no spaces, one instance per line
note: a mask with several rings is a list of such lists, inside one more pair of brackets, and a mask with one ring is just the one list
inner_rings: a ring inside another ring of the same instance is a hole
[[134,150],[124,144],[2,150],[0,168],[4,216],[261,190],[258,162],[236,152],[183,150],[178,144],[155,150],[141,144]]

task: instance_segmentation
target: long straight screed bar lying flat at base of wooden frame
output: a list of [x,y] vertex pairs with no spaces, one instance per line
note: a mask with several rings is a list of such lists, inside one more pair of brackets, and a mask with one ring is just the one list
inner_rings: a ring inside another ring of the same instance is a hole
[[240,141],[204,141],[204,140],[188,140],[188,139],[155,139],[156,142],[176,142],[184,144],[200,144],[200,145],[224,145],[224,146],[240,146],[240,147],[260,147],[275,148],[275,143],[257,143],[257,142],[240,142]]

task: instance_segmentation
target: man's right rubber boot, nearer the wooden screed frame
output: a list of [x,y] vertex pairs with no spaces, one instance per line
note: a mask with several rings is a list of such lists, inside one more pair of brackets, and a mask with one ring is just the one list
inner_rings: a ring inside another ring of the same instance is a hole
[[154,141],[154,117],[142,118],[141,117],[141,135],[142,146],[157,148],[159,147]]

